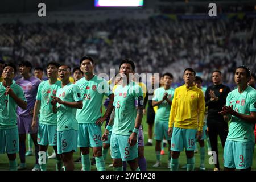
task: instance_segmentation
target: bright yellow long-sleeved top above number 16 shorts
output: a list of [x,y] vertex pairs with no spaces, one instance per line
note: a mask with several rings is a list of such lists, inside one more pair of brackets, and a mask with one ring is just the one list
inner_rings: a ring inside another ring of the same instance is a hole
[[203,131],[205,101],[204,93],[197,86],[186,85],[175,89],[172,100],[169,127]]

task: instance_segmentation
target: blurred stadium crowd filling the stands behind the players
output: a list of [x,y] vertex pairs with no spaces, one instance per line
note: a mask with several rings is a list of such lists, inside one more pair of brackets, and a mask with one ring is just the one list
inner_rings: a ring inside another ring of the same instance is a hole
[[256,69],[255,19],[172,20],[157,16],[146,20],[104,22],[0,24],[0,58],[27,60],[34,67],[58,61],[77,67],[83,55],[93,56],[95,72],[118,69],[125,57],[136,62],[137,73],[171,72],[182,80],[192,67],[204,81],[219,69],[227,84],[237,65]]

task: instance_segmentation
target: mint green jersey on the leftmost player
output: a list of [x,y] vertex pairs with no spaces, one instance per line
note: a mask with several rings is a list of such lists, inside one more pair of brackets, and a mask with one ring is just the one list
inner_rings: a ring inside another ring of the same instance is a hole
[[[18,98],[27,102],[19,85],[13,82],[10,87]],[[13,97],[6,94],[5,90],[6,87],[3,86],[3,82],[0,82],[0,129],[13,129],[17,127],[18,115],[16,109],[18,105]]]

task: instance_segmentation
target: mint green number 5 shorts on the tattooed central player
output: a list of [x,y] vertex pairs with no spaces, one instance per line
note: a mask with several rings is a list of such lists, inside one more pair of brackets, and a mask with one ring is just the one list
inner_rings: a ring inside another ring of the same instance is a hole
[[110,151],[112,159],[122,159],[129,161],[138,158],[138,139],[137,143],[130,147],[128,143],[130,135],[118,135],[112,133],[110,139]]

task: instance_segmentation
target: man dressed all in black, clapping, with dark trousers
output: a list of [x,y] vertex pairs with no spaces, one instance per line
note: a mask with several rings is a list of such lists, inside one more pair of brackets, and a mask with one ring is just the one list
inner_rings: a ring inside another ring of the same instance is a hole
[[226,136],[228,135],[228,123],[224,121],[222,115],[218,114],[225,106],[226,97],[230,92],[230,88],[222,84],[222,74],[215,70],[212,72],[212,82],[205,91],[205,106],[208,106],[207,127],[212,151],[216,152],[217,164],[214,171],[220,170],[220,162],[218,160],[218,135],[224,148]]

